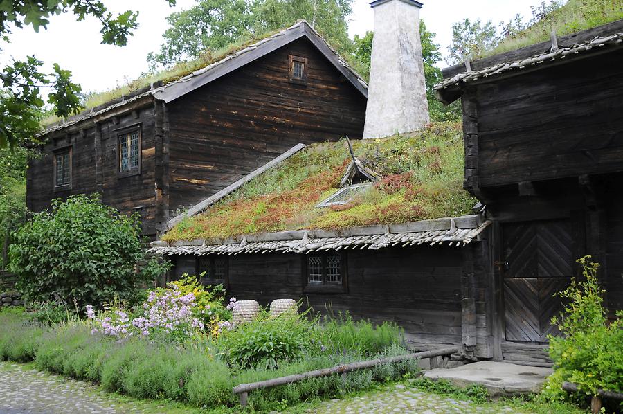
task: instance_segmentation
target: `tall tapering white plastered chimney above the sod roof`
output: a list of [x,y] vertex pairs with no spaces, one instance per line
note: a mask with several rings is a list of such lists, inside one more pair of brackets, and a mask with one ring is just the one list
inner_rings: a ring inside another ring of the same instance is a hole
[[428,123],[419,9],[415,0],[377,0],[363,138],[411,132]]

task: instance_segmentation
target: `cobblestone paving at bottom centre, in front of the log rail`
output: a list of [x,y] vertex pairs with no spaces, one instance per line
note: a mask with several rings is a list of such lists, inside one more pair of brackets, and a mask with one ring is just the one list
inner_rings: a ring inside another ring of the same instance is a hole
[[417,388],[408,388],[404,385],[395,386],[395,390],[386,390],[379,393],[352,397],[347,399],[333,399],[320,403],[312,413],[418,413],[418,414],[446,414],[446,413],[516,413],[516,408],[505,406],[483,407],[469,401],[453,399],[443,395],[424,393]]

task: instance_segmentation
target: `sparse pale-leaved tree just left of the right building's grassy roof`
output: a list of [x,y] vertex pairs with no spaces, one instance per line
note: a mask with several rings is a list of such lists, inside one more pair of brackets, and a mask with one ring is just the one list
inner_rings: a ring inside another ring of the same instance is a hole
[[448,63],[456,64],[465,60],[476,60],[494,48],[500,38],[496,27],[480,19],[464,19],[452,25],[452,43],[448,46]]

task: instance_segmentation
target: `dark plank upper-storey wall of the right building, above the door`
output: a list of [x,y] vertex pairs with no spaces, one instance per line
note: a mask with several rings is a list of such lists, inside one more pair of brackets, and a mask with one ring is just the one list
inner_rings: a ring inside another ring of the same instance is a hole
[[477,186],[623,170],[623,51],[481,84]]

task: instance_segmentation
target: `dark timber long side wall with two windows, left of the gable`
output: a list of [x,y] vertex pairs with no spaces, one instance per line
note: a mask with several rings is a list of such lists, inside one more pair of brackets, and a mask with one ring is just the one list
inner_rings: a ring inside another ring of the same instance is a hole
[[[118,174],[117,132],[127,127],[141,130],[141,174]],[[159,217],[155,188],[154,104],[125,114],[89,123],[83,129],[54,134],[44,145],[42,157],[30,162],[27,205],[30,210],[48,208],[55,198],[99,192],[102,200],[122,213],[141,214],[143,233],[155,235]],[[82,132],[81,132],[82,131]],[[55,190],[53,154],[71,147],[72,173],[69,190]]]

